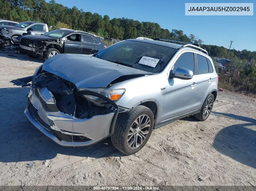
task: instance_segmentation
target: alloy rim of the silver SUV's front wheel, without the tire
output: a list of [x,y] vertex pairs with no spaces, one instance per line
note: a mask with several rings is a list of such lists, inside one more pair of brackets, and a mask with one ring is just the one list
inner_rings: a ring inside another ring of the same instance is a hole
[[135,119],[127,135],[128,147],[138,148],[147,138],[150,126],[151,120],[148,115],[141,115]]

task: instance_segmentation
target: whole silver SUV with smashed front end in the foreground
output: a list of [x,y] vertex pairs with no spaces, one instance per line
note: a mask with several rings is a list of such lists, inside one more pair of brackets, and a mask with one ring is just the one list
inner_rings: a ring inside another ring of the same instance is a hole
[[153,129],[190,115],[206,120],[218,75],[198,46],[139,38],[92,56],[55,55],[12,83],[32,87],[25,116],[59,145],[110,136],[115,148],[134,154]]

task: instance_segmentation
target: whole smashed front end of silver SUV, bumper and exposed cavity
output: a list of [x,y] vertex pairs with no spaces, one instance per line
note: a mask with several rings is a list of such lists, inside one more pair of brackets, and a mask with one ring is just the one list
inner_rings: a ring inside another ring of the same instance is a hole
[[87,146],[114,132],[119,108],[105,95],[77,89],[75,84],[49,72],[11,82],[31,86],[25,116],[59,145]]

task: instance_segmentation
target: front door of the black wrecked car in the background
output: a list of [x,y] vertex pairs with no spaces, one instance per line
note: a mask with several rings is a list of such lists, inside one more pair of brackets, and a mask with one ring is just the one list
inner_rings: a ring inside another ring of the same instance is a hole
[[66,54],[81,54],[82,53],[81,34],[72,33],[65,37],[64,53]]

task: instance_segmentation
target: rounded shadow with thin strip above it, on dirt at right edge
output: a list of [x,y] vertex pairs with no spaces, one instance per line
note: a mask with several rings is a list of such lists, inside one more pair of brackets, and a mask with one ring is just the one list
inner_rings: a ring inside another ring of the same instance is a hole
[[252,168],[256,168],[256,120],[229,113],[215,115],[249,122],[225,127],[214,138],[213,148],[220,153]]

